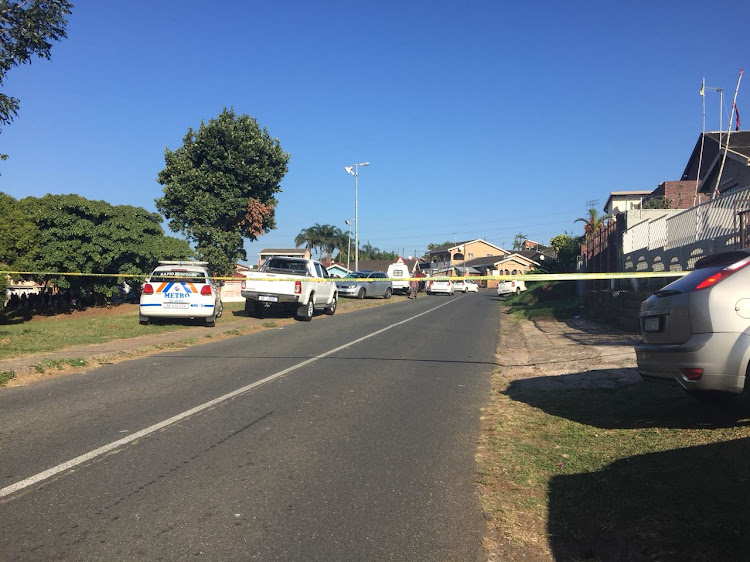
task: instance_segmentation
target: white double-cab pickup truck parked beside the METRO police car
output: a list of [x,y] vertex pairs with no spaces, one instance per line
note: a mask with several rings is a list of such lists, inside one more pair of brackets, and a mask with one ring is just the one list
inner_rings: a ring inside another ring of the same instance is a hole
[[240,294],[245,310],[258,318],[266,309],[288,308],[298,320],[312,320],[315,309],[336,312],[336,283],[323,264],[304,258],[272,256],[258,272],[245,274]]

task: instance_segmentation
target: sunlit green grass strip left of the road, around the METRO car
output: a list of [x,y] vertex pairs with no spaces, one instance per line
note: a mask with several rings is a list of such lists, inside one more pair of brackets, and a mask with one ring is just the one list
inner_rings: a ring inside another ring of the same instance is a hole
[[[233,312],[243,310],[243,303],[227,303],[217,326],[235,320]],[[35,316],[30,320],[5,318],[0,324],[0,359],[56,351],[74,345],[105,343],[185,330],[198,325],[186,321],[138,323],[138,307],[120,306],[107,314],[85,311],[53,317]],[[210,328],[207,328],[210,330]]]

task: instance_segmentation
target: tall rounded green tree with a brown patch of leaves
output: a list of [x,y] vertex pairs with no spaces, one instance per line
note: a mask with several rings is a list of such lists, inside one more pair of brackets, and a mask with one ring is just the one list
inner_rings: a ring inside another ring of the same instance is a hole
[[247,258],[245,239],[275,228],[274,195],[289,155],[255,119],[225,108],[197,131],[188,129],[183,145],[167,148],[164,159],[157,208],[216,274],[229,275]]

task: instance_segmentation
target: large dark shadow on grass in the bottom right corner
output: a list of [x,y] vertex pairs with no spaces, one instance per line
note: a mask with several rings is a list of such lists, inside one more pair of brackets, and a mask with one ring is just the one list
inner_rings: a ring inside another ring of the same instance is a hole
[[549,484],[555,560],[747,560],[750,439],[629,457]]

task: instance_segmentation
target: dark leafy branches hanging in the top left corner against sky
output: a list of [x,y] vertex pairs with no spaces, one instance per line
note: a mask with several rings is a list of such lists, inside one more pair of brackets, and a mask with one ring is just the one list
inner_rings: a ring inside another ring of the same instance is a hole
[[[30,63],[35,55],[50,58],[52,42],[67,37],[72,9],[66,0],[0,0],[0,88],[14,66]],[[19,103],[0,93],[0,124],[13,121]]]

